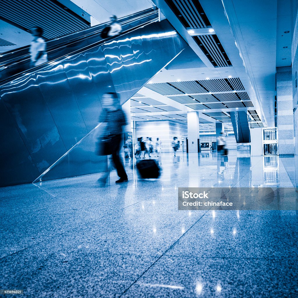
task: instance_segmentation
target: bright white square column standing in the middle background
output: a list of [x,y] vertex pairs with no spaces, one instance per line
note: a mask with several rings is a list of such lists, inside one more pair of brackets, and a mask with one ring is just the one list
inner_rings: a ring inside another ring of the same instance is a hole
[[188,152],[198,152],[199,133],[199,113],[187,112],[187,137],[188,137]]

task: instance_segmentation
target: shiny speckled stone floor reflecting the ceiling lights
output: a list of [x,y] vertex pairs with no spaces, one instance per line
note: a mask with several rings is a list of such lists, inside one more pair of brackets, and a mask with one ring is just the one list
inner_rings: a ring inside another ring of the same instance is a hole
[[[297,157],[163,153],[162,175],[0,189],[0,289],[22,297],[298,297],[298,212],[178,210],[178,187],[297,186]],[[297,206],[293,207],[296,209]],[[8,297],[8,296],[5,296]],[[10,295],[9,297],[14,297]],[[19,297],[16,295],[15,297]]]

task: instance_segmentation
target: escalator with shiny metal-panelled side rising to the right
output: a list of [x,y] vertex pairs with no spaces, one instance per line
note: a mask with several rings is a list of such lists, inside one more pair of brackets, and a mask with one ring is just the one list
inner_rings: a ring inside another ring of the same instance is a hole
[[100,172],[93,132],[102,94],[125,103],[187,46],[155,11],[122,28],[104,41],[101,25],[51,40],[50,61],[33,69],[28,49],[1,55],[0,186]]

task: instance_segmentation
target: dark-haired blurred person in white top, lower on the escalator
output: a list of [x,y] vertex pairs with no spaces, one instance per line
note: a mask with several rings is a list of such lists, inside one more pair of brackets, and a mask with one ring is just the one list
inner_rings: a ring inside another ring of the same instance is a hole
[[46,63],[48,57],[46,54],[46,42],[42,37],[44,30],[41,27],[33,27],[31,35],[33,40],[30,45],[31,67]]

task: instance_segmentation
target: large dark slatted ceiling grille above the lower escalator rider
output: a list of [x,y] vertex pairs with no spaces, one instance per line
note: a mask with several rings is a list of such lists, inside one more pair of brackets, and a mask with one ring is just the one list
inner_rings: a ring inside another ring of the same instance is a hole
[[44,29],[44,38],[54,38],[90,27],[90,23],[55,0],[4,0],[1,17],[23,30]]

